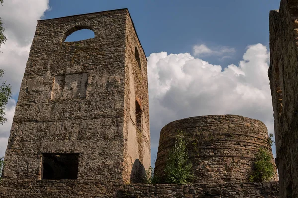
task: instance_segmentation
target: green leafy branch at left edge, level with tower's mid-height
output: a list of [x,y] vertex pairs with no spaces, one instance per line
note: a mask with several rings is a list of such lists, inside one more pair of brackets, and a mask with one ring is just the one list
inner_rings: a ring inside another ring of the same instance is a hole
[[[0,81],[3,77],[4,70],[0,69]],[[0,86],[0,124],[4,124],[7,119],[4,118],[5,115],[5,107],[8,103],[8,99],[11,98],[12,92],[11,92],[11,86],[10,84],[6,84],[6,81],[2,83]]]

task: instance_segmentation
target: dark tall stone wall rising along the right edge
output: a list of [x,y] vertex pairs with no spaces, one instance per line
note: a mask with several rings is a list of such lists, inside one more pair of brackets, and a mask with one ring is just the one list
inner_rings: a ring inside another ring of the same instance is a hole
[[298,197],[298,1],[270,12],[268,76],[281,198]]

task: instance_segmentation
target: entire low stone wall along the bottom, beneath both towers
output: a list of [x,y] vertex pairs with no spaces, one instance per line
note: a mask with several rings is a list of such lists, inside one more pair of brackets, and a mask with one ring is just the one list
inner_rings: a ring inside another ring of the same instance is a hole
[[100,181],[5,179],[0,198],[278,198],[278,182],[127,184]]

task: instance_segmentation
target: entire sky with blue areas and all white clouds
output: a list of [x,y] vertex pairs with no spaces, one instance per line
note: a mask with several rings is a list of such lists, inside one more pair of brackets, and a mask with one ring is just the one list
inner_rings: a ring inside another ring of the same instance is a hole
[[[269,81],[269,11],[280,0],[4,0],[0,68],[13,99],[0,126],[4,155],[36,21],[128,8],[148,57],[152,162],[160,129],[170,121],[238,114],[273,133]],[[77,36],[75,36],[77,33]],[[82,31],[70,35],[82,39]]]

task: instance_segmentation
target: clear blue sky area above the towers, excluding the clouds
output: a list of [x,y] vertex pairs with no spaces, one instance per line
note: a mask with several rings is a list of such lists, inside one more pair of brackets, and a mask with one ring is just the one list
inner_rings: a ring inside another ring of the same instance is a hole
[[50,0],[44,19],[128,8],[147,56],[192,52],[194,44],[237,49],[224,62],[239,61],[248,45],[269,45],[269,11],[280,0]]

